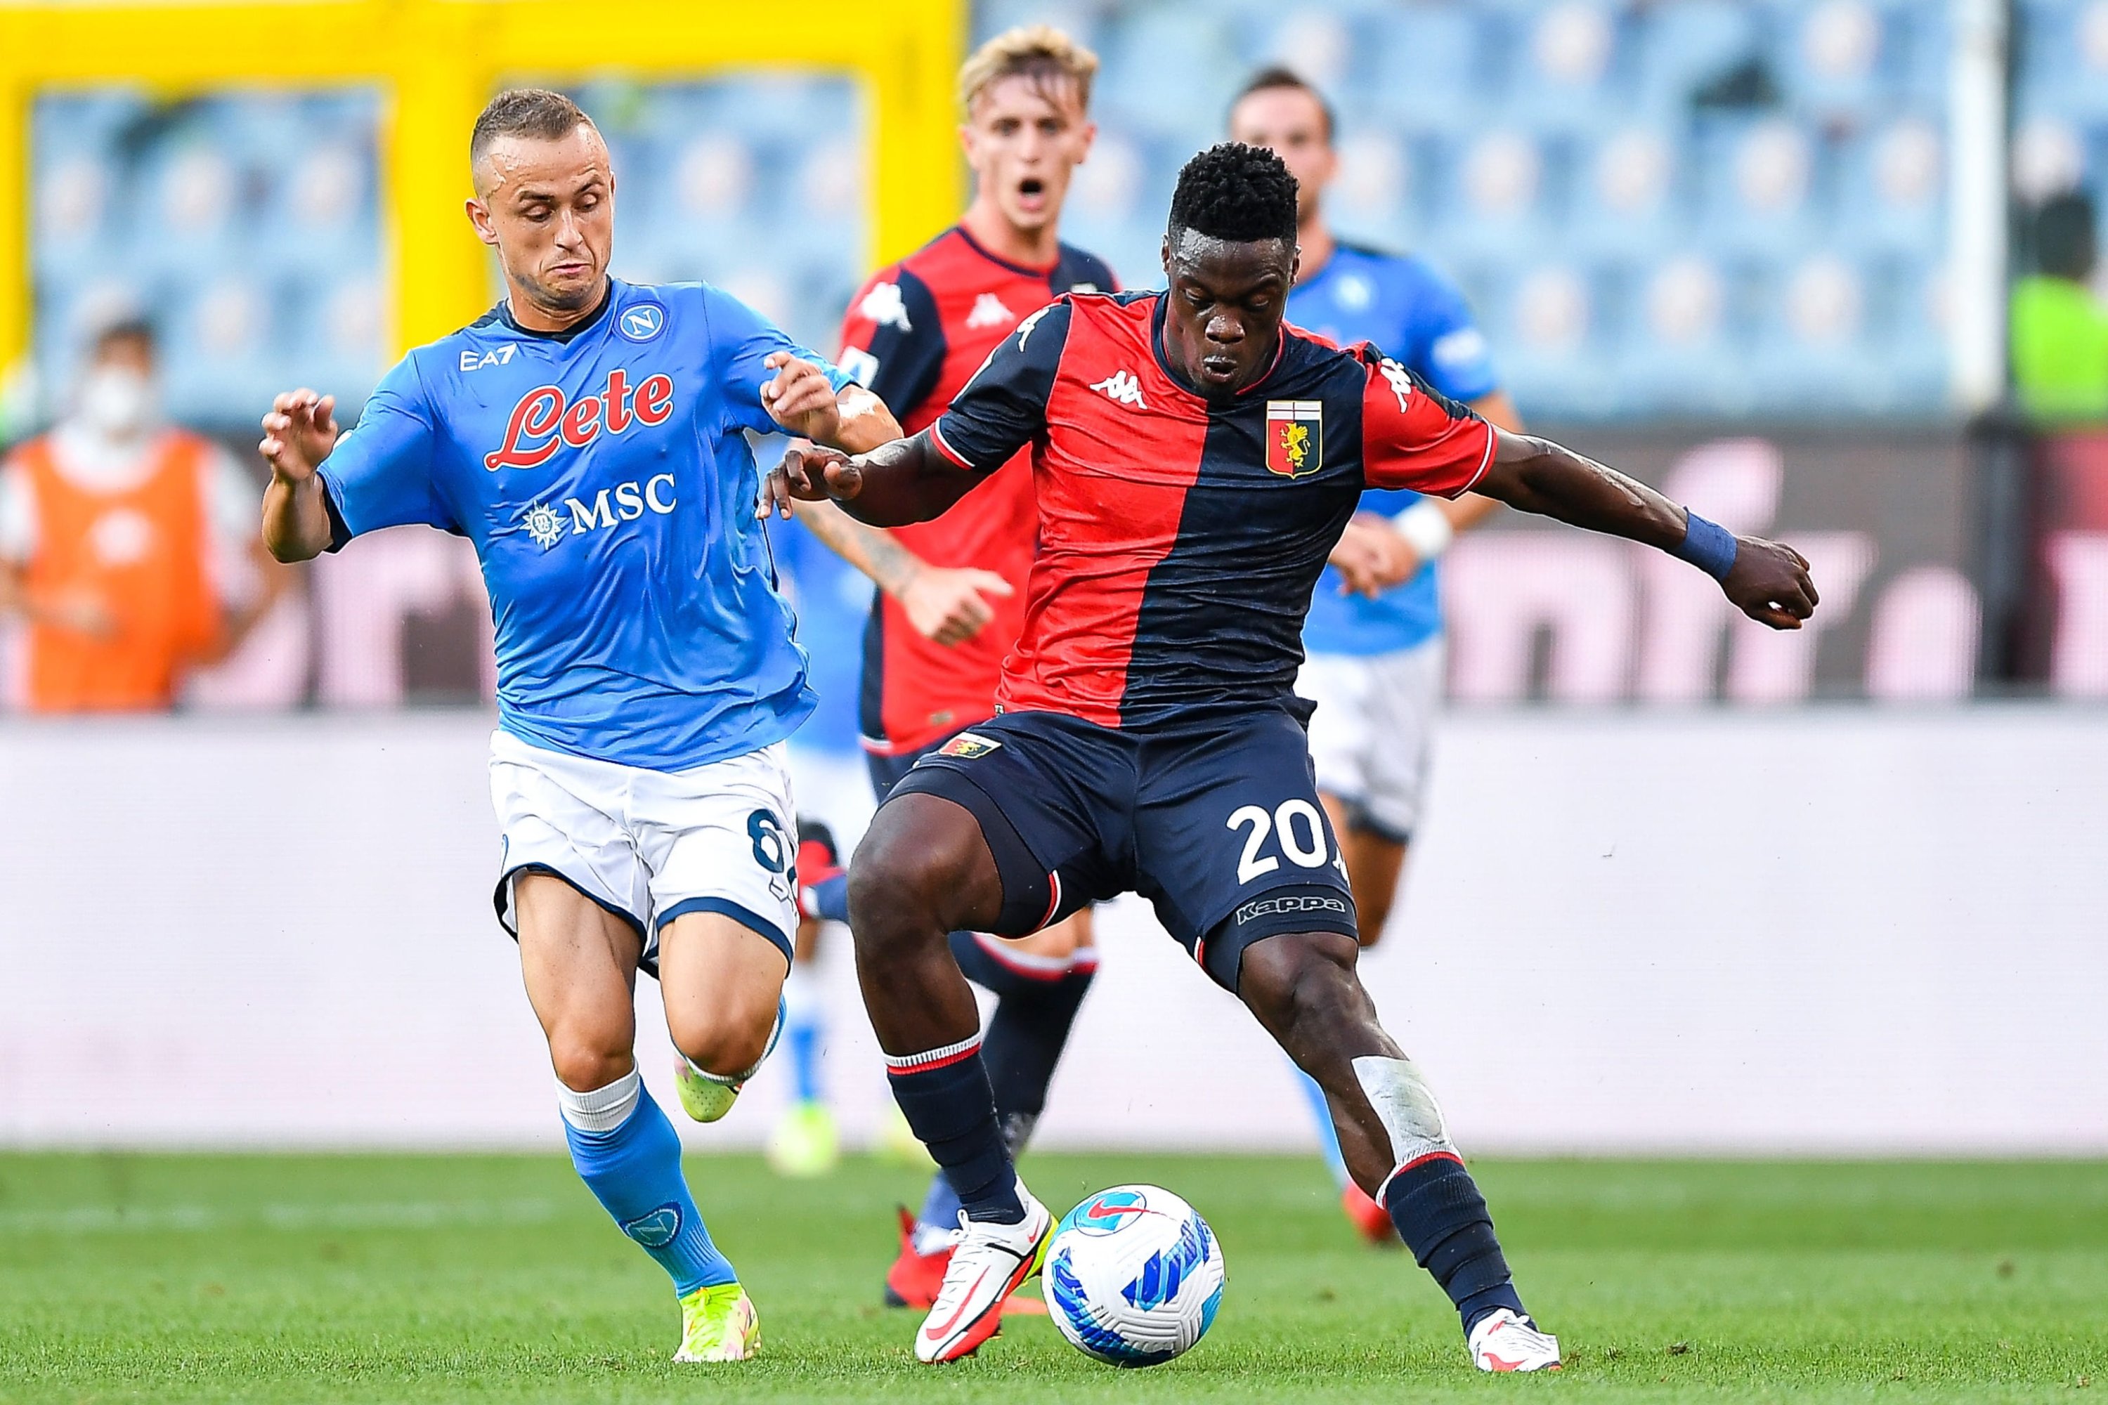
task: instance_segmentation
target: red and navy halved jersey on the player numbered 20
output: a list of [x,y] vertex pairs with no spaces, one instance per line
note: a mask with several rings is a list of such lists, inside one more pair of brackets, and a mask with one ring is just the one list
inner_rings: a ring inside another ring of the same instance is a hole
[[932,434],[968,472],[1033,455],[1039,552],[997,704],[1132,729],[1307,710],[1303,615],[1362,491],[1455,497],[1495,444],[1377,348],[1296,326],[1267,375],[1210,402],[1164,356],[1164,293],[1024,318]]

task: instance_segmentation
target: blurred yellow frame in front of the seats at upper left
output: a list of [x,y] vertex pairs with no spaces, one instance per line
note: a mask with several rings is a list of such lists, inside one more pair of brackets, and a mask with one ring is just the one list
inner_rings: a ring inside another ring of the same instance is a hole
[[30,114],[40,91],[135,84],[379,88],[388,103],[384,251],[398,348],[489,305],[468,230],[468,128],[500,82],[706,78],[797,67],[852,74],[866,95],[873,259],[898,257],[959,211],[953,74],[965,0],[310,0],[299,4],[6,4],[0,0],[0,369],[30,348]]

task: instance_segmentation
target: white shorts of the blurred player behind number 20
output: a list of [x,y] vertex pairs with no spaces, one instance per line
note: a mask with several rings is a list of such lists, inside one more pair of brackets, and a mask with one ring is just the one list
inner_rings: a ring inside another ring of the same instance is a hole
[[1345,800],[1353,828],[1406,843],[1421,822],[1429,746],[1442,710],[1442,636],[1395,653],[1313,653],[1296,674],[1311,714],[1318,790]]

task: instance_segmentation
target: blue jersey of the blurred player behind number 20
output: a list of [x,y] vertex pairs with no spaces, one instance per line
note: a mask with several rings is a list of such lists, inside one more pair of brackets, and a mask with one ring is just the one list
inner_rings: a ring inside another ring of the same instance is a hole
[[[1288,320],[1341,345],[1370,341],[1450,400],[1478,400],[1501,388],[1463,293],[1425,259],[1339,244],[1288,295]],[[1362,510],[1383,516],[1398,516],[1414,501],[1419,493],[1408,489],[1362,493]],[[1433,565],[1374,600],[1343,596],[1339,588],[1339,571],[1326,567],[1303,626],[1309,653],[1393,653],[1442,632]]]

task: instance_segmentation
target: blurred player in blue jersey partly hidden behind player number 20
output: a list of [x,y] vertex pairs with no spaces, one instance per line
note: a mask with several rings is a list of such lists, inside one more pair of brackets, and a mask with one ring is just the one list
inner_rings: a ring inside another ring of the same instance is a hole
[[[1339,156],[1324,95],[1292,72],[1269,67],[1231,105],[1229,135],[1271,150],[1296,177],[1301,265],[1288,320],[1341,345],[1381,345],[1450,400],[1520,432],[1522,419],[1501,390],[1463,295],[1427,261],[1343,244],[1326,225],[1324,190]],[[1318,704],[1309,723],[1311,760],[1347,855],[1364,946],[1374,946],[1389,923],[1427,788],[1429,739],[1442,706],[1436,560],[1459,531],[1495,508],[1476,493],[1444,501],[1410,489],[1368,489],[1332,548],[1303,626],[1307,657],[1296,691]],[[1324,1089],[1309,1076],[1301,1083],[1347,1218],[1370,1241],[1395,1243],[1383,1205],[1347,1175]]]

